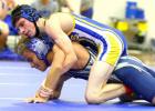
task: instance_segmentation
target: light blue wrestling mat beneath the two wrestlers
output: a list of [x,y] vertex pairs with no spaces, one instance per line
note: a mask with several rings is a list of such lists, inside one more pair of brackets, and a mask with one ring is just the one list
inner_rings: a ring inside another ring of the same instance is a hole
[[118,103],[112,100],[100,105],[84,101],[86,81],[71,79],[63,87],[60,100],[48,103],[25,103],[44,78],[45,72],[31,69],[27,62],[0,61],[0,111],[155,111],[146,102]]

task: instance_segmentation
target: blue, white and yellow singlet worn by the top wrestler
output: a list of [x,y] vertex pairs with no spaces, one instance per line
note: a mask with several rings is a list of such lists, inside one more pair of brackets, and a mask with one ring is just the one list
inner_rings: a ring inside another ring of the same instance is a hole
[[70,39],[84,42],[89,47],[95,46],[96,60],[115,65],[120,57],[127,54],[125,37],[118,30],[82,16],[72,14],[72,17],[74,27],[69,33]]

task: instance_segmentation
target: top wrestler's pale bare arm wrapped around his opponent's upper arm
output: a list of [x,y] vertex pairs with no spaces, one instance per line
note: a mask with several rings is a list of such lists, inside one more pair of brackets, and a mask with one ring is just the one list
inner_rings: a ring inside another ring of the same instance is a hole
[[[73,50],[71,40],[68,37],[68,34],[63,31],[64,29],[62,29],[62,23],[60,22],[61,21],[59,14],[51,16],[45,23],[45,31],[65,54],[65,59],[63,62],[63,72],[65,73],[76,62],[78,58]],[[66,27],[68,26],[65,26],[65,28]]]

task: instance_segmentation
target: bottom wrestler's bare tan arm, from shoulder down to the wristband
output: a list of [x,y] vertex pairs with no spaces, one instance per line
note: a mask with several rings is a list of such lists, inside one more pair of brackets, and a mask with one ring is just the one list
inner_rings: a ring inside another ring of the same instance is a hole
[[65,54],[58,46],[54,46],[52,51],[53,51],[53,60],[46,74],[44,85],[49,89],[55,90],[60,81],[60,78],[64,74],[63,61],[65,59]]

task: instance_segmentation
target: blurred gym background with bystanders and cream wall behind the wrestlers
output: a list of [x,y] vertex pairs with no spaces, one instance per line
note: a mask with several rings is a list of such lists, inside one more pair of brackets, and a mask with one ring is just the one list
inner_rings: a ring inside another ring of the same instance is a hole
[[[143,62],[155,62],[155,0],[0,0],[0,60],[23,61],[14,53],[20,39],[12,28],[10,11],[18,4],[31,4],[48,18],[58,11],[73,11],[121,30],[128,42],[128,53]],[[3,7],[3,2],[7,6]],[[85,9],[92,13],[85,14]],[[2,30],[2,31],[1,31]]]

